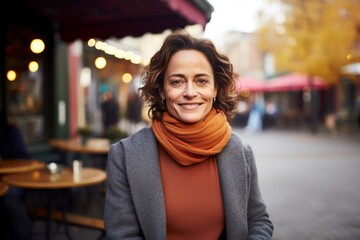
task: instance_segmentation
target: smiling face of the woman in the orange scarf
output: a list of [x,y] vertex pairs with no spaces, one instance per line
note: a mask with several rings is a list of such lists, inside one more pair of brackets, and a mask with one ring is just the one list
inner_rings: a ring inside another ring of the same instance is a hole
[[169,61],[161,98],[171,116],[185,123],[202,120],[216,96],[211,65],[197,50],[181,50]]

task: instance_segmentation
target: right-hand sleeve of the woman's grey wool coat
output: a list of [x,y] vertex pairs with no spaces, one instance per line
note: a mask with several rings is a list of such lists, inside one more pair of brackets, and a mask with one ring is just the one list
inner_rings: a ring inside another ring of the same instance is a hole
[[249,145],[245,146],[245,157],[250,173],[247,240],[268,240],[272,238],[274,226],[261,196],[254,154]]

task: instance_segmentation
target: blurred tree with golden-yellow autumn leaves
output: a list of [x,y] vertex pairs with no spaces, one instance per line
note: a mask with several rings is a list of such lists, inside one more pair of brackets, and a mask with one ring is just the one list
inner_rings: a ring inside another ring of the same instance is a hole
[[[336,83],[359,60],[359,0],[268,0],[260,14],[259,46],[276,71],[317,75]],[[271,11],[271,9],[276,9]]]

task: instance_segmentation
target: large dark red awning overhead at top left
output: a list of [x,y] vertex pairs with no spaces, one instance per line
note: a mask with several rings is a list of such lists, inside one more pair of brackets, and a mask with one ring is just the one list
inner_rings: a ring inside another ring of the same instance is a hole
[[141,36],[192,24],[205,27],[212,11],[207,0],[11,0],[0,12],[8,23],[53,29],[71,42]]

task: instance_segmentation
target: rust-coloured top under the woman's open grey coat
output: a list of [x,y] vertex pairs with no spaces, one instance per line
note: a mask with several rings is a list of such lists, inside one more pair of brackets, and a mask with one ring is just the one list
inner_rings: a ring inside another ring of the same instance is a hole
[[218,239],[225,217],[215,157],[183,166],[159,149],[167,239]]

